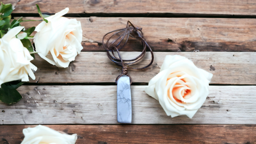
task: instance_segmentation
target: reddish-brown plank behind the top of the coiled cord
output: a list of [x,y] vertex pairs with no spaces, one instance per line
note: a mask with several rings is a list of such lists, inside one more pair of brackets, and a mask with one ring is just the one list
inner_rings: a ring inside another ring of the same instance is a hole
[[[41,20],[26,17],[25,19]],[[143,28],[146,41],[154,51],[244,51],[256,50],[256,19],[238,18],[77,18],[81,21],[83,51],[104,51],[104,34],[125,28],[127,20]],[[25,22],[29,28],[40,22]],[[140,41],[130,39],[126,51],[140,51]]]

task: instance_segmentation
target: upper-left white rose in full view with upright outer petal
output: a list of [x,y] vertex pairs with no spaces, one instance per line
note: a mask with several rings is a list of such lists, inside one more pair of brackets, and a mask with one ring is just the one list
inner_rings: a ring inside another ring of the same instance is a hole
[[82,50],[81,23],[75,18],[65,18],[68,8],[47,17],[48,23],[36,26],[34,44],[36,52],[47,62],[66,68]]

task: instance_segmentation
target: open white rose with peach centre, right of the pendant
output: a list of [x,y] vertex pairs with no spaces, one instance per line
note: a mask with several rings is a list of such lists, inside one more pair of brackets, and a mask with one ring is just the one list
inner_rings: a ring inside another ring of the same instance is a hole
[[167,55],[145,92],[159,100],[168,116],[186,114],[192,118],[209,94],[210,79],[211,73],[197,68],[188,58]]

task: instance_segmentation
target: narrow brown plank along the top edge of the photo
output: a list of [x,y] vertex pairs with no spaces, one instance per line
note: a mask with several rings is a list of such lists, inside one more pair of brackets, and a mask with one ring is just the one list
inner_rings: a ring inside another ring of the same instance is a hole
[[56,13],[65,7],[70,7],[74,14],[228,14],[255,15],[256,2],[253,0],[205,0],[205,1],[126,1],[126,0],[74,0],[63,1],[33,1],[33,0],[4,0],[12,3],[15,13],[37,13],[36,4],[42,12]]

